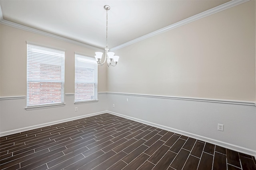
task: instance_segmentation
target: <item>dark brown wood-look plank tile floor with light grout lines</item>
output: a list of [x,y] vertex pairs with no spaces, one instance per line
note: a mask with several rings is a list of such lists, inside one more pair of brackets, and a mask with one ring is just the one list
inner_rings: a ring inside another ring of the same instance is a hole
[[256,170],[253,156],[108,113],[0,144],[1,170]]

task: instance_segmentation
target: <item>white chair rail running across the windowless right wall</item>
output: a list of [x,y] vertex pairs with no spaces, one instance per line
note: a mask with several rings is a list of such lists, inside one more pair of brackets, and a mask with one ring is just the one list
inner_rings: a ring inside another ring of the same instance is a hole
[[113,93],[113,92],[106,92],[106,94],[256,106],[255,102],[239,101],[239,100],[222,100],[222,99],[210,99],[210,98],[189,98],[189,97],[177,97],[177,96],[156,96],[156,95],[147,95],[147,94],[130,94],[130,93]]

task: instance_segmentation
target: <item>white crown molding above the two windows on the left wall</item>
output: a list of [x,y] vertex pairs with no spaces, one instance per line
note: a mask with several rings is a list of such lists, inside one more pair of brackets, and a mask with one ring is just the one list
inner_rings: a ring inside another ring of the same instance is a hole
[[36,34],[39,34],[39,35],[44,35],[44,36],[51,37],[51,38],[54,38],[54,39],[58,39],[58,40],[61,40],[61,41],[66,41],[68,43],[72,43],[72,44],[75,44],[75,45],[80,45],[80,46],[86,47],[88,49],[92,49],[92,50],[96,50],[96,51],[102,51],[102,52],[105,51],[104,49],[100,49],[100,48],[94,47],[92,45],[88,45],[88,44],[85,44],[85,43],[80,43],[80,42],[74,41],[72,39],[64,38],[64,37],[54,35],[52,33],[47,33],[47,32],[44,32],[44,31],[40,31],[38,29],[30,28],[30,27],[27,27],[27,26],[24,26],[24,25],[20,25],[18,23],[11,22],[11,21],[0,20],[0,23],[2,23],[4,25],[8,25],[10,27],[22,29],[22,30],[29,31],[29,32],[32,32],[32,33],[36,33]]

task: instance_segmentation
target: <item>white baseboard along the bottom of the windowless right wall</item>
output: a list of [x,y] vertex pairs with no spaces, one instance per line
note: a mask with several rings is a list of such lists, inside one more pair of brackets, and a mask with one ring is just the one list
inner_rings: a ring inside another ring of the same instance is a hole
[[233,144],[230,144],[230,143],[218,141],[218,140],[211,139],[211,138],[208,138],[208,137],[203,137],[203,136],[196,135],[196,134],[193,134],[193,133],[188,133],[188,132],[185,132],[185,131],[180,131],[178,129],[173,129],[171,127],[167,127],[167,126],[159,125],[159,124],[156,124],[156,123],[144,121],[144,120],[141,120],[141,119],[137,119],[137,118],[134,118],[134,117],[122,115],[120,113],[115,113],[115,112],[112,112],[112,111],[106,111],[106,113],[110,113],[112,115],[124,117],[126,119],[130,119],[130,120],[133,120],[133,121],[138,121],[140,123],[150,125],[150,126],[154,126],[154,127],[160,128],[160,129],[167,130],[167,131],[171,131],[171,132],[174,132],[174,133],[179,133],[181,135],[192,137],[194,139],[199,139],[201,141],[206,141],[208,143],[212,143],[214,145],[225,147],[227,149],[231,149],[231,150],[235,150],[235,151],[238,151],[238,152],[241,152],[241,153],[252,155],[256,158],[256,150],[251,150],[251,149],[248,149],[248,148],[244,148],[244,147],[240,147],[240,146],[233,145]]

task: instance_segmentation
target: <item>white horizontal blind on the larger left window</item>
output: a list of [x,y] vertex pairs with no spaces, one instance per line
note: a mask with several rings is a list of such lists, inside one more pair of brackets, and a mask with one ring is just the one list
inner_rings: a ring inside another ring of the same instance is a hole
[[64,103],[65,52],[27,44],[27,107]]

